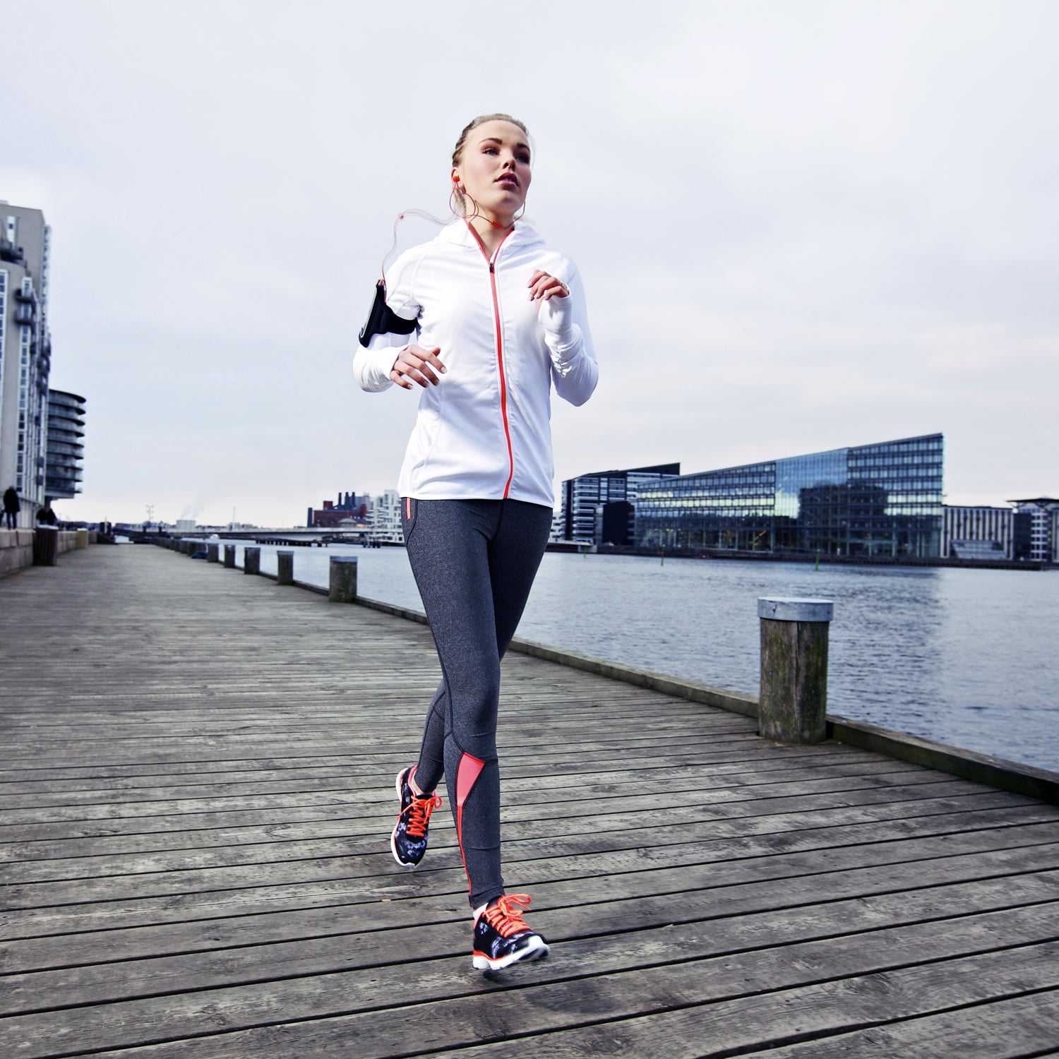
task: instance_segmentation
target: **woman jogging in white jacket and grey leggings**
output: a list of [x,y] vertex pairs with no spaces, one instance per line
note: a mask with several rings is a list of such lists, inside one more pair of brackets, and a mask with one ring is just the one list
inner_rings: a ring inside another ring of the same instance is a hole
[[530,162],[514,118],[464,129],[451,170],[462,219],[397,259],[354,360],[364,390],[423,391],[398,486],[443,676],[419,759],[397,776],[391,849],[403,866],[423,859],[444,775],[481,970],[548,953],[523,918],[530,898],[505,894],[500,874],[500,660],[552,523],[551,387],[582,405],[597,378],[577,269],[518,219]]

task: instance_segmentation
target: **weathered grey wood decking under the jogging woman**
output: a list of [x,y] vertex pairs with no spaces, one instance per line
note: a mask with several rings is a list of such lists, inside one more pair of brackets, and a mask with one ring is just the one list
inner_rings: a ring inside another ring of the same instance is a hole
[[0,652],[4,1059],[1059,1051],[1055,806],[513,654],[553,949],[485,977],[448,807],[389,850],[426,628],[94,548],[0,581]]

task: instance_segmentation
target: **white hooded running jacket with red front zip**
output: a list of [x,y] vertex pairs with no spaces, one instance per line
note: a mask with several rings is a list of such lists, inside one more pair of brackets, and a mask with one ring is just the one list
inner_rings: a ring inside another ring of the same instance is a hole
[[[570,288],[530,301],[536,270]],[[598,377],[580,275],[528,226],[514,230],[491,261],[464,222],[406,251],[387,276],[387,305],[415,320],[412,341],[436,346],[446,373],[428,385],[398,480],[416,500],[554,503],[551,387],[584,405]],[[410,336],[382,334],[359,347],[354,374],[364,390],[393,385],[390,372]]]

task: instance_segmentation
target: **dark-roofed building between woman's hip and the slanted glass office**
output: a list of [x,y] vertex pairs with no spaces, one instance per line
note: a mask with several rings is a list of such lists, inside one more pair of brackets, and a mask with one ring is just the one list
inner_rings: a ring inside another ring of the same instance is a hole
[[562,483],[558,539],[631,544],[640,489],[678,474],[680,464],[671,463],[599,470],[567,479]]

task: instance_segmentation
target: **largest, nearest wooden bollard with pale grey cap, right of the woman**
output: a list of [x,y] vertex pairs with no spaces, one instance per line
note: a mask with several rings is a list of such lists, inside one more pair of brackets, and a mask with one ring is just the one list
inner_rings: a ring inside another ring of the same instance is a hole
[[821,742],[827,734],[829,599],[757,600],[761,625],[758,735],[780,742]]

